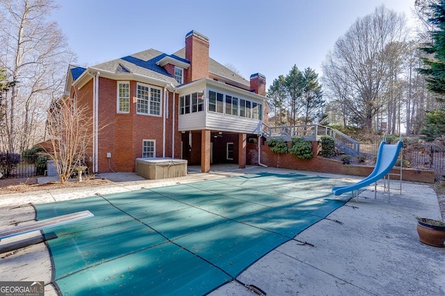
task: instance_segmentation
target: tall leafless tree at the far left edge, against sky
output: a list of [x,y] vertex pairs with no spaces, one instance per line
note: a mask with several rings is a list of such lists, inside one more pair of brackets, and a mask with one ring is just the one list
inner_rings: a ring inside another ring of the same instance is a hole
[[41,139],[49,103],[61,94],[74,55],[56,23],[47,22],[56,8],[53,0],[0,0],[0,67],[16,82],[5,100],[0,149],[19,151]]

